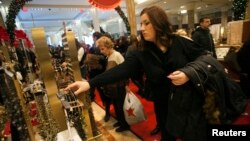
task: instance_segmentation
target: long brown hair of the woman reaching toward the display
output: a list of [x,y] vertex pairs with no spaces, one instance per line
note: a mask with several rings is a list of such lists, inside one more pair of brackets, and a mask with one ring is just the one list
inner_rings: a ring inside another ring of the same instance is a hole
[[[152,23],[153,28],[156,32],[156,43],[160,43],[164,47],[168,47],[170,45],[170,38],[173,35],[171,24],[168,21],[168,16],[165,13],[165,11],[158,7],[158,6],[151,6],[144,8],[141,11],[140,16],[143,14],[147,14],[149,17],[150,22]],[[148,46],[152,45],[152,42],[146,41],[142,35],[141,35],[141,45],[142,47],[148,48]]]

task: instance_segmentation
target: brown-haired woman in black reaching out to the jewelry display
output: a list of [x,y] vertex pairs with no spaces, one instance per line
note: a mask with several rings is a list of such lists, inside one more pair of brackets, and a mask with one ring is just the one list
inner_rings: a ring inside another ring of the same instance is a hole
[[127,79],[143,69],[154,94],[155,109],[160,113],[161,141],[176,141],[177,138],[206,141],[204,94],[196,90],[197,84],[189,81],[190,71],[185,68],[204,54],[204,50],[192,40],[173,34],[163,9],[144,8],[140,18],[140,50],[130,52],[118,66],[89,81],[76,81],[65,90],[72,89],[78,95],[90,87]]

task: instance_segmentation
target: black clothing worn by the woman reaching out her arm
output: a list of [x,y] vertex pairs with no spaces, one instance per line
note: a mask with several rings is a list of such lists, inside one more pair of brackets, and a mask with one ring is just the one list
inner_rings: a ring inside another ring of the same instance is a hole
[[162,107],[159,123],[164,128],[162,134],[168,132],[184,141],[204,141],[206,121],[202,112],[203,95],[195,89],[191,81],[174,86],[167,78],[170,73],[183,68],[203,54],[202,48],[179,36],[172,38],[172,44],[166,53],[162,53],[153,44],[147,48],[152,50],[163,64],[148,50],[131,52],[124,63],[91,79],[90,86],[101,86],[129,78],[135,71],[143,69],[155,94],[155,102]]

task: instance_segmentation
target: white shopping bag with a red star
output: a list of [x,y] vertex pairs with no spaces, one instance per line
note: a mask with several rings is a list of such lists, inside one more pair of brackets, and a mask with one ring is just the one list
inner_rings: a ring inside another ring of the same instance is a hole
[[129,125],[136,124],[147,119],[141,101],[131,91],[126,94],[123,111],[125,119]]

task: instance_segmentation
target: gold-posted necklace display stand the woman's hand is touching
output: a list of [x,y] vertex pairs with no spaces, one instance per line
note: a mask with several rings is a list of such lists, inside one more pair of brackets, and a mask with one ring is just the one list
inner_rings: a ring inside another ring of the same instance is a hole
[[43,28],[33,28],[32,38],[36,47],[41,80],[44,82],[48,101],[51,102],[53,116],[60,125],[60,132],[67,130],[68,139],[66,140],[70,141],[75,138],[74,129],[82,140],[99,137],[100,133],[95,125],[89,94],[80,94],[76,97],[71,91],[63,91],[68,84],[82,80],[74,33],[65,31],[62,35],[63,58],[51,57]]

